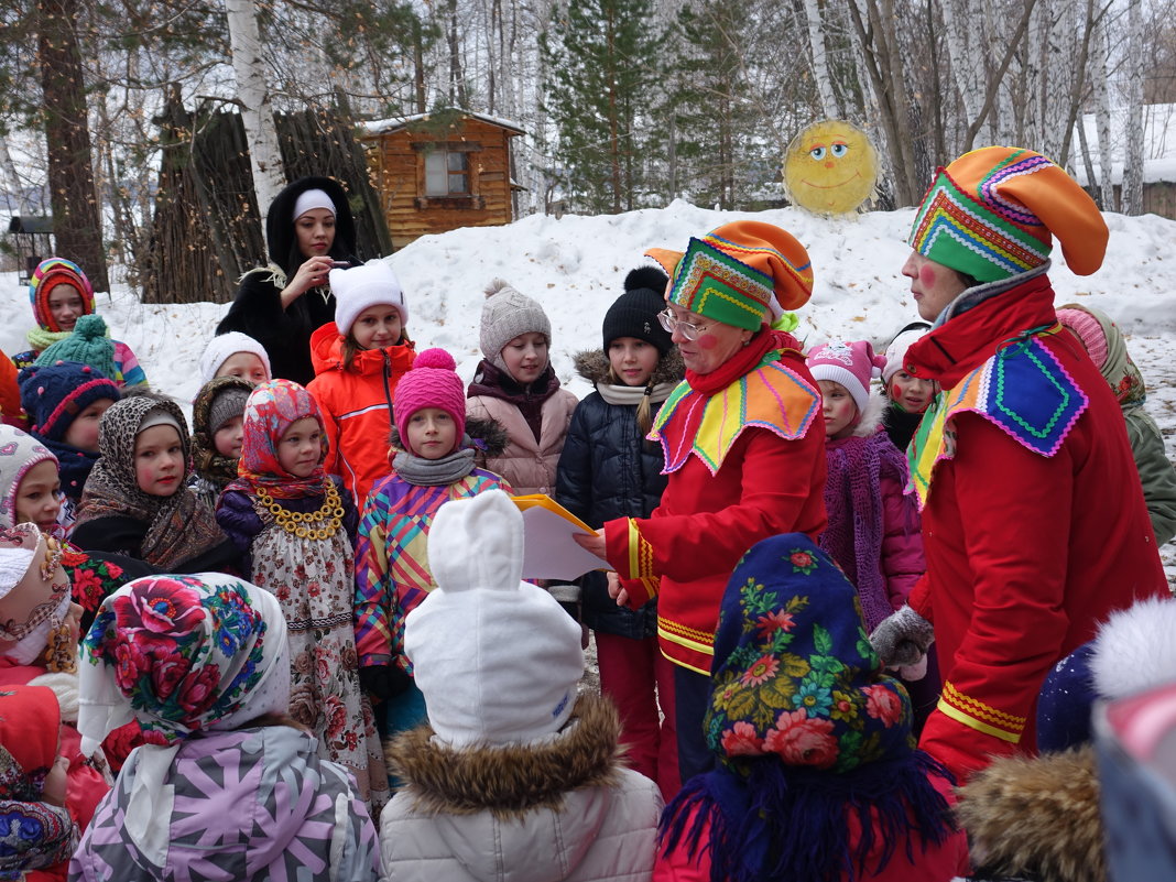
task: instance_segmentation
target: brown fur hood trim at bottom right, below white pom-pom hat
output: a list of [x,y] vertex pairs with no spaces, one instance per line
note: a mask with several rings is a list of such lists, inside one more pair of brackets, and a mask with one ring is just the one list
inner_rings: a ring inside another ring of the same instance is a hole
[[994,760],[958,794],[976,878],[1105,882],[1091,746]]

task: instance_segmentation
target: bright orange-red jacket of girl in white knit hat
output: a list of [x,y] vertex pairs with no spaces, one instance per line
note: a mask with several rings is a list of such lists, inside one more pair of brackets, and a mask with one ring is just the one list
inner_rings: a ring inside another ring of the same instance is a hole
[[310,335],[315,377],[306,388],[322,408],[330,445],[323,468],[343,479],[356,509],[362,509],[372,485],[392,473],[392,399],[415,360],[413,343],[401,343],[359,352],[350,369],[343,370],[343,338],[335,322]]

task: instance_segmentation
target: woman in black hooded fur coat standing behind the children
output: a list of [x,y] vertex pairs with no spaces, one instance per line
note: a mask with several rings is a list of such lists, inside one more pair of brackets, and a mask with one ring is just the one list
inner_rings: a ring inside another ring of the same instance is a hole
[[260,342],[275,379],[314,379],[310,334],[335,320],[327,273],[355,256],[355,220],[343,188],[329,178],[300,178],[279,193],[266,218],[269,263],[241,278],[236,299],[216,326]]

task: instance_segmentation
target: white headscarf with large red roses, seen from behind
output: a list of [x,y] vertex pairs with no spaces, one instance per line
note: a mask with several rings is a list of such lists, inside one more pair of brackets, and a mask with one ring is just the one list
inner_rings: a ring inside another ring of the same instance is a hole
[[102,602],[82,640],[82,751],[132,719],[149,744],[169,746],[285,713],[288,659],[268,592],[221,573],[136,579]]

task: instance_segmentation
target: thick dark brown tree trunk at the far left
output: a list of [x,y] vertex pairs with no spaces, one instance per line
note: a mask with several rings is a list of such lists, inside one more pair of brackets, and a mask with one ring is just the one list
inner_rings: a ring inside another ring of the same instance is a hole
[[95,290],[109,290],[81,51],[73,31],[80,13],[76,0],[40,0],[38,7],[53,234],[58,254],[81,266]]

